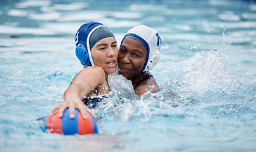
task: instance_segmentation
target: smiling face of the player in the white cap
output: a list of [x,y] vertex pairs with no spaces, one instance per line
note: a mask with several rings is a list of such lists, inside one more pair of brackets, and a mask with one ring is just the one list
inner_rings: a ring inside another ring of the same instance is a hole
[[147,58],[147,49],[135,39],[123,40],[118,54],[119,73],[131,79],[141,72]]

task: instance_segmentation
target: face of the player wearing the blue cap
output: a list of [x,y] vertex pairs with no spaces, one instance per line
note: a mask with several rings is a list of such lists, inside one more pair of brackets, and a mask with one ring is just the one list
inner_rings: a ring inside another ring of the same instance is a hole
[[95,66],[103,68],[108,75],[116,70],[118,65],[118,46],[114,37],[107,37],[98,41],[91,48],[91,56]]

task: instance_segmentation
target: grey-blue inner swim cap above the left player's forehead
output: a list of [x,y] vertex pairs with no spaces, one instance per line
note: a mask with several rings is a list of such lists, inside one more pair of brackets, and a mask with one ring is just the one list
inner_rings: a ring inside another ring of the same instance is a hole
[[[111,29],[107,27],[99,27],[90,36],[89,45],[90,49],[100,40],[107,38],[107,37],[114,37]],[[115,38],[115,37],[114,37]]]

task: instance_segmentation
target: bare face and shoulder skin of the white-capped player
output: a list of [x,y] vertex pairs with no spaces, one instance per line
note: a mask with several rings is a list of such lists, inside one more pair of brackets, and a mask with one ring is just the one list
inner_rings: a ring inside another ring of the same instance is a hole
[[[150,72],[144,72],[138,75],[142,71],[146,58],[147,49],[143,44],[131,38],[123,40],[118,54],[119,74],[131,80],[133,87],[135,87],[134,92],[138,96],[141,96],[147,91],[159,91],[158,84],[154,78],[141,82],[146,75],[151,74]],[[140,84],[138,84],[139,82]]]

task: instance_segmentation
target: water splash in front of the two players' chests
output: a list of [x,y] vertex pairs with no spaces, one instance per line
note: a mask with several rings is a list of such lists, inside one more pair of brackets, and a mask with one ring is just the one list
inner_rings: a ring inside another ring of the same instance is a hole
[[[131,122],[139,118],[142,122],[147,122],[152,117],[151,101],[149,94],[145,94],[140,99],[133,90],[130,80],[123,75],[109,75],[109,87],[111,91],[98,108],[97,117],[101,121],[112,120],[116,122]],[[144,100],[147,98],[147,100]]]

